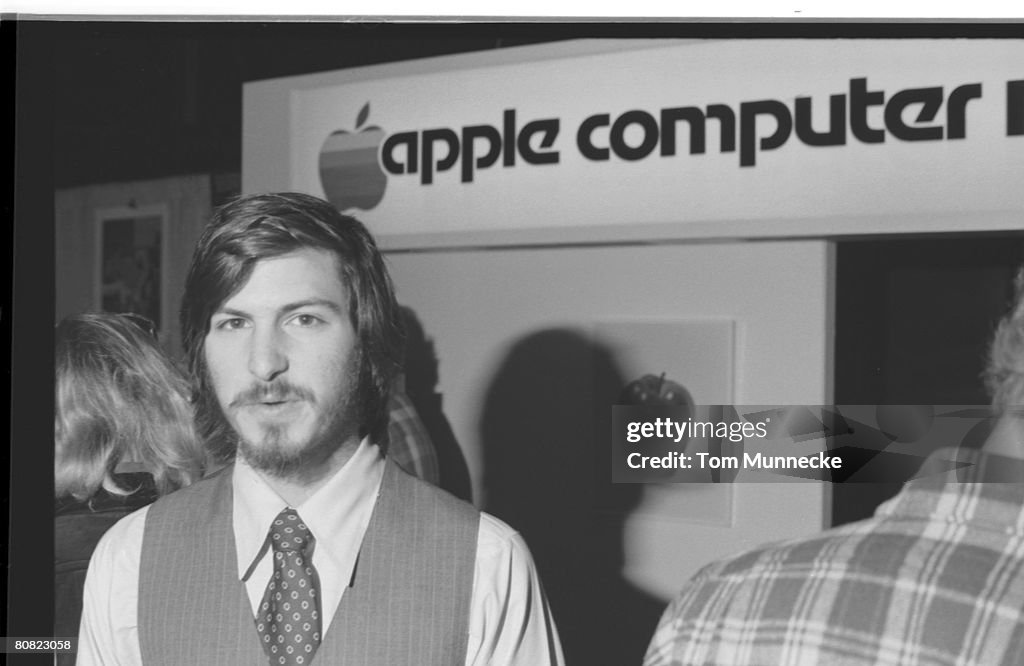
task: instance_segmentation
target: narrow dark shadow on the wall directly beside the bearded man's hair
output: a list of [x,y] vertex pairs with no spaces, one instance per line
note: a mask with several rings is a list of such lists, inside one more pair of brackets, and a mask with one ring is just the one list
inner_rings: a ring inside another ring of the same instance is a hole
[[402,305],[401,315],[406,325],[406,394],[433,442],[440,472],[438,485],[456,497],[472,502],[469,467],[452,424],[444,416],[441,394],[437,392],[437,353],[433,340],[426,336],[423,324],[411,307]]

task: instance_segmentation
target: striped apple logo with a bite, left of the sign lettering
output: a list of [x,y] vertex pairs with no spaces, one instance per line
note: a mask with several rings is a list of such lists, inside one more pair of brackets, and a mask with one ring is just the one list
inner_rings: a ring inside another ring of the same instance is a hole
[[331,132],[321,148],[321,184],[327,200],[338,210],[370,210],[384,198],[387,175],[377,162],[384,130],[362,127],[369,117],[368,101],[355,119],[356,133],[343,129]]

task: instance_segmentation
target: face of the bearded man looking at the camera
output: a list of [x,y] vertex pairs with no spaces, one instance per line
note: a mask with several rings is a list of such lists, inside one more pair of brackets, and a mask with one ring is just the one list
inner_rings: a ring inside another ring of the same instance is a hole
[[239,452],[288,476],[358,436],[359,351],[334,254],[261,259],[210,319],[210,381]]

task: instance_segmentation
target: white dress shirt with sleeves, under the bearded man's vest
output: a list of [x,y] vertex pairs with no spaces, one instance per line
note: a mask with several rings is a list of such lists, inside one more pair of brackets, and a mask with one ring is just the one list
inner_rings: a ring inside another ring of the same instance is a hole
[[[319,575],[325,627],[331,626],[351,580],[383,474],[380,449],[364,441],[344,467],[293,507],[316,539],[313,566]],[[231,484],[238,575],[245,582],[255,617],[272,574],[269,549],[262,546],[270,523],[288,505],[241,460],[234,465]],[[147,508],[117,523],[92,554],[79,630],[79,666],[142,663],[138,577]],[[529,549],[505,523],[481,513],[466,664],[562,663],[558,632]]]

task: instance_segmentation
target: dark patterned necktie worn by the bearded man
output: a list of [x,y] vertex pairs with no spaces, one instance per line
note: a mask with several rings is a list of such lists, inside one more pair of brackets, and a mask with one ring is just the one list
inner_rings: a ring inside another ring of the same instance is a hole
[[308,666],[321,642],[319,595],[313,569],[313,537],[295,509],[270,526],[273,576],[256,618],[271,665]]

